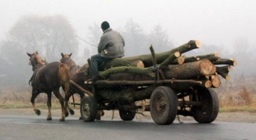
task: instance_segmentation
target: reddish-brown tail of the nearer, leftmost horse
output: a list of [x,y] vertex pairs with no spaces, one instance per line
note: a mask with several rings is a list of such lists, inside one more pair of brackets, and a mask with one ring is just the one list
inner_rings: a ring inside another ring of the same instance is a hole
[[64,86],[65,96],[69,92],[69,84],[70,84],[70,71],[66,64],[61,63],[59,66],[59,78],[61,80],[61,85]]

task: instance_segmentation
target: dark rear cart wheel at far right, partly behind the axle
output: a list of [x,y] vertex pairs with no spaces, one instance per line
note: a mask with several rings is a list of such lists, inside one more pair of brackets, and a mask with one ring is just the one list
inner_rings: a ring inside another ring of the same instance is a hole
[[[196,100],[193,96],[192,100]],[[198,123],[212,123],[219,111],[218,96],[212,89],[198,88],[198,100],[202,106],[192,106],[191,112]]]

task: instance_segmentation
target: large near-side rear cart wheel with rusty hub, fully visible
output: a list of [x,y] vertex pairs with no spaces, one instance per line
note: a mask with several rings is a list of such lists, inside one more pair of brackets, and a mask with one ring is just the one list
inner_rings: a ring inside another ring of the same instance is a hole
[[150,114],[154,122],[168,125],[177,115],[178,99],[175,92],[167,86],[159,86],[150,97]]

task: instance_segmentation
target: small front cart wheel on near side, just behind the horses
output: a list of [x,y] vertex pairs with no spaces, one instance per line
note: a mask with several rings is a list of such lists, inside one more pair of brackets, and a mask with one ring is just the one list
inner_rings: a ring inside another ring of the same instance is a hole
[[81,117],[85,122],[92,122],[97,117],[97,103],[94,97],[83,97],[80,105]]

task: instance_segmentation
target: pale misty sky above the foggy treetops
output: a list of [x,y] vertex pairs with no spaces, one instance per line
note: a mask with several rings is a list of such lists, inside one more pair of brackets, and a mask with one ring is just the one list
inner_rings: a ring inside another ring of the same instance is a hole
[[177,45],[199,39],[232,47],[239,36],[256,43],[255,0],[0,0],[0,40],[26,14],[65,15],[84,38],[94,23],[120,29],[132,18],[146,32],[161,25]]

